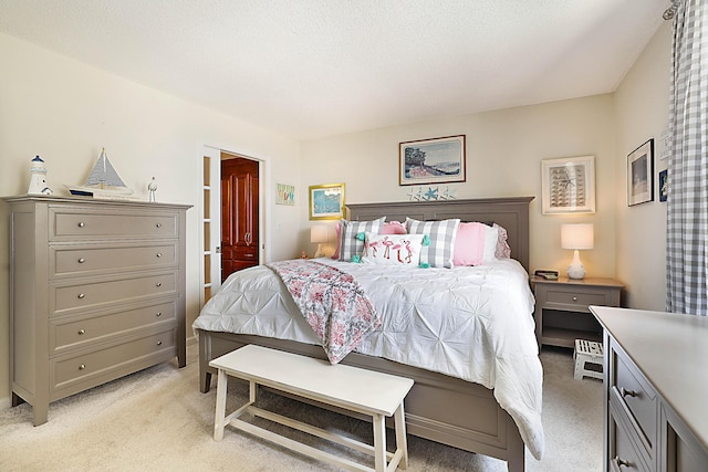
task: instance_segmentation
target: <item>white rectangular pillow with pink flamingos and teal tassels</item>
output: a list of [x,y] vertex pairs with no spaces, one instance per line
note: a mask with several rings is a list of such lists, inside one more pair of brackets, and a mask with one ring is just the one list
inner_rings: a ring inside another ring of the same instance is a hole
[[366,233],[362,262],[365,264],[409,265],[417,268],[425,234]]

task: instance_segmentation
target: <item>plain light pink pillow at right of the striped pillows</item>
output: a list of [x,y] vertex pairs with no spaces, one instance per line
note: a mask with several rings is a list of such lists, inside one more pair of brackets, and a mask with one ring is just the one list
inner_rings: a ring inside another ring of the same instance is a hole
[[482,265],[496,259],[499,230],[485,223],[460,223],[455,238],[455,265]]

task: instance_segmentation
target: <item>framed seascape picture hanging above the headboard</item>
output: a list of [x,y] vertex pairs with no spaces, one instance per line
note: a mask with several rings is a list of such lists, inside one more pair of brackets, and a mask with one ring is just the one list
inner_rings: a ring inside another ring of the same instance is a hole
[[398,145],[398,185],[467,180],[465,135],[406,141]]

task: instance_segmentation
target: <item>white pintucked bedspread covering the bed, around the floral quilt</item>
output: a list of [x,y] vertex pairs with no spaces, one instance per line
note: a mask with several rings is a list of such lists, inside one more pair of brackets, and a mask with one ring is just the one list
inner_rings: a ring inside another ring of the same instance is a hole
[[[382,315],[357,353],[481,384],[543,454],[543,371],[528,274],[514,260],[455,269],[410,269],[319,259],[351,273]],[[232,274],[194,328],[320,344],[280,277],[267,266]]]

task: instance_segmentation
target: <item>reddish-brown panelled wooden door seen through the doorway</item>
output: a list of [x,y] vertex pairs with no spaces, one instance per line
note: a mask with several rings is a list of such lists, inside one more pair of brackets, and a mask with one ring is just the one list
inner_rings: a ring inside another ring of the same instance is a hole
[[222,159],[221,282],[236,271],[258,265],[258,162]]

